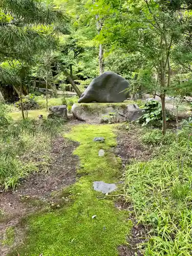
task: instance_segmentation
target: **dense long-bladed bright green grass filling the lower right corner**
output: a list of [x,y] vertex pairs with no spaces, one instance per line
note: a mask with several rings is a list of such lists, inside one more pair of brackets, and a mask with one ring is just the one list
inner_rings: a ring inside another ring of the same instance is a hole
[[192,250],[192,142],[186,134],[144,130],[154,158],[128,165],[125,198],[139,222],[150,229],[145,255],[187,256]]

